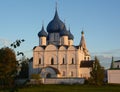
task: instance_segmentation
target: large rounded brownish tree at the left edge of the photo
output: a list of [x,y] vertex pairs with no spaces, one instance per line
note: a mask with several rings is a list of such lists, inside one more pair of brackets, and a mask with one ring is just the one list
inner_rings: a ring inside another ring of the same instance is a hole
[[11,85],[12,79],[16,75],[17,61],[15,52],[4,47],[0,49],[0,85]]

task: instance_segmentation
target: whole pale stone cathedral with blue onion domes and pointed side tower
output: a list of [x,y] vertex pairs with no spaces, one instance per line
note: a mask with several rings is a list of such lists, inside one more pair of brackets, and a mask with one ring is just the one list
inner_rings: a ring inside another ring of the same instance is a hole
[[33,48],[30,74],[42,78],[89,78],[92,61],[86,46],[84,32],[79,45],[60,19],[57,9],[53,19],[38,32],[39,46]]

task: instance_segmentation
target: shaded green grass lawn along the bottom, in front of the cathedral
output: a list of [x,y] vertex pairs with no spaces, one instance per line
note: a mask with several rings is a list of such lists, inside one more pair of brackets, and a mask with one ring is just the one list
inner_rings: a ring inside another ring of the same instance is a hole
[[120,85],[40,85],[18,89],[19,92],[120,92]]

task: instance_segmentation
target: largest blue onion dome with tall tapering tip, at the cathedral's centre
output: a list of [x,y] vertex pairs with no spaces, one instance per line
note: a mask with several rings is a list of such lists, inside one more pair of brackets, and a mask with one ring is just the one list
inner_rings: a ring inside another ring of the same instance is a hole
[[55,11],[55,16],[53,20],[51,20],[47,26],[48,33],[60,32],[64,28],[64,23],[59,19],[57,9]]

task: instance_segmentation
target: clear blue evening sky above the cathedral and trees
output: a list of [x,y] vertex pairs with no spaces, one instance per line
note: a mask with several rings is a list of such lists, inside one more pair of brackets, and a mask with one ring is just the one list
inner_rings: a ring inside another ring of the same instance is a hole
[[32,57],[39,44],[37,34],[53,19],[56,2],[75,45],[83,30],[91,56],[120,59],[120,0],[0,0],[0,47],[25,39],[17,50]]

